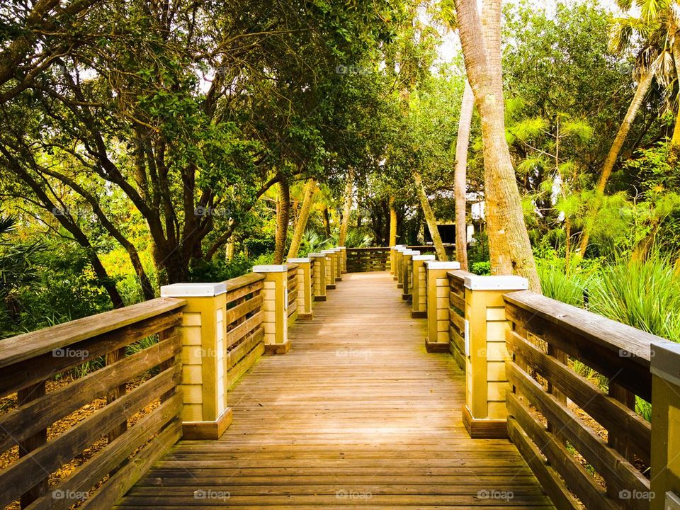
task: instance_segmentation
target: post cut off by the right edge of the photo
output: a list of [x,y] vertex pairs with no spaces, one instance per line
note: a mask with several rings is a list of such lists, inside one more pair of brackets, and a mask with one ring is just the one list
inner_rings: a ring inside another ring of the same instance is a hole
[[680,508],[680,344],[652,343],[651,510]]

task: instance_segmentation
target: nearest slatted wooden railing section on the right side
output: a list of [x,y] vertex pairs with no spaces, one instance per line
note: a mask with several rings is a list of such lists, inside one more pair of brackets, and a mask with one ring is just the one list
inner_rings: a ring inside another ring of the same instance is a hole
[[635,401],[651,400],[663,340],[530,291],[505,302],[508,433],[555,505],[649,509],[651,425]]

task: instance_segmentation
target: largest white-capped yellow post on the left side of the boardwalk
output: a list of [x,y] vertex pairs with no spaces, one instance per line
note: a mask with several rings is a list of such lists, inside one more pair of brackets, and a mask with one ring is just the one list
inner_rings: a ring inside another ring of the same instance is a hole
[[161,297],[186,300],[182,310],[182,433],[185,439],[217,439],[232,422],[227,407],[225,313],[227,285],[175,283]]

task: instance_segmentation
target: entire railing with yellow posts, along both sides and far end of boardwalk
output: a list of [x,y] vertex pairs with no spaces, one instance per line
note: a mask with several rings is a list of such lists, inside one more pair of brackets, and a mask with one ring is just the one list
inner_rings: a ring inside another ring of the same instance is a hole
[[[475,276],[412,248],[338,247],[227,282],[169,285],[157,300],[1,341],[0,397],[16,400],[0,415],[1,450],[16,449],[0,471],[1,506],[112,506],[179,438],[222,435],[229,387],[263,353],[285,354],[290,324],[311,319],[343,273],[387,270],[412,316],[426,317],[427,350],[465,371],[470,436],[509,438],[557,508],[675,504],[678,345],[531,293],[523,278]],[[96,370],[66,378],[84,363]],[[652,424],[636,402],[651,403]]]

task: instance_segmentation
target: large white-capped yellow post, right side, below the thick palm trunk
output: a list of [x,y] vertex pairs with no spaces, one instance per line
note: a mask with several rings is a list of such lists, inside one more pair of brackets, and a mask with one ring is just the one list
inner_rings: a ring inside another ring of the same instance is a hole
[[472,438],[506,438],[508,351],[503,295],[526,290],[520,276],[465,276],[465,406],[463,424]]

